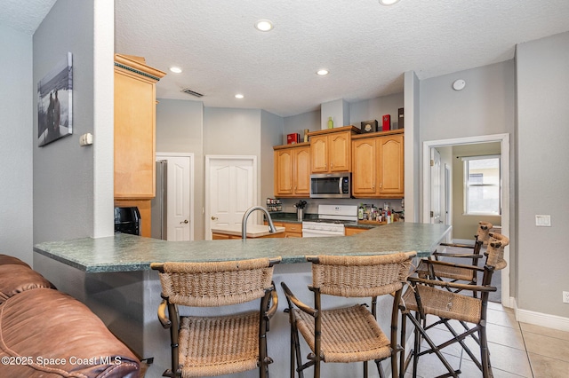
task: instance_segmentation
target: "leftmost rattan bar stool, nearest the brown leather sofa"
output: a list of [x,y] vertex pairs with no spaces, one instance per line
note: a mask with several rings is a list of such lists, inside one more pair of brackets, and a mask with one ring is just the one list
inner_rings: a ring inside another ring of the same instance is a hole
[[[163,376],[214,376],[259,367],[259,376],[268,377],[273,360],[267,355],[266,333],[278,305],[272,276],[273,265],[280,260],[151,264],[162,285],[158,319],[170,328],[171,337],[172,368]],[[255,300],[260,302],[259,311],[179,315],[179,306],[220,307]]]

